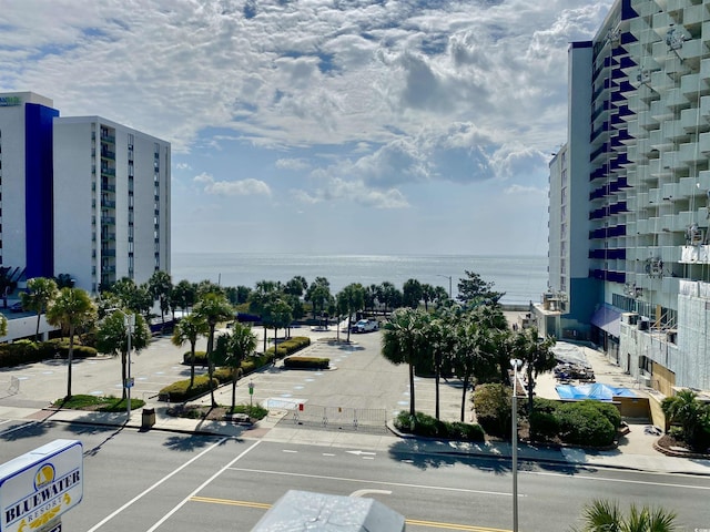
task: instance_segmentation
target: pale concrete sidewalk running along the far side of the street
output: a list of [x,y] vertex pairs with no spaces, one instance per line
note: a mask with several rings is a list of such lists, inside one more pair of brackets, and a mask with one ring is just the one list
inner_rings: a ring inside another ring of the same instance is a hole
[[[29,408],[0,408],[0,417],[16,420],[54,421],[67,423],[90,423],[110,427],[128,427],[139,430],[164,430],[185,434],[212,434],[225,438],[258,439],[267,441],[353,448],[378,452],[436,453],[440,456],[489,457],[509,460],[511,446],[508,442],[468,443],[428,438],[397,436],[393,431],[382,434],[357,431],[308,429],[294,424],[278,423],[286,411],[267,416],[252,426],[226,421],[204,421],[172,418],[165,413],[168,407],[155,411],[155,424],[143,427],[143,411],[134,410],[126,423],[126,413],[85,412],[79,410],[53,410]],[[635,428],[632,427],[632,430]],[[648,437],[652,438],[652,437]],[[650,448],[650,446],[649,446]],[[365,451],[363,451],[365,452]],[[518,446],[518,460],[542,463],[569,464],[575,468],[618,468],[666,473],[710,475],[710,460],[691,460],[666,457],[659,452],[623,452],[623,444],[609,451],[587,451],[576,448],[557,449],[550,447]]]

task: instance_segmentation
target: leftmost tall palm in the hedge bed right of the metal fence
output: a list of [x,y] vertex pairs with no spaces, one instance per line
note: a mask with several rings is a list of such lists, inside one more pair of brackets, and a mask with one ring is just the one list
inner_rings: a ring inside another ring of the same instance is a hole
[[409,416],[415,419],[414,367],[423,359],[422,330],[427,315],[419,309],[398,308],[384,326],[382,354],[392,364],[409,366]]

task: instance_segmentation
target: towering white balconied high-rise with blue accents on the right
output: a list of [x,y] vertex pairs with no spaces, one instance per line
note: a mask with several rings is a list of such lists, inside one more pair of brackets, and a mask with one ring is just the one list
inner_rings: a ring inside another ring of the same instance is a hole
[[663,393],[710,389],[710,4],[617,0],[569,93],[536,315]]

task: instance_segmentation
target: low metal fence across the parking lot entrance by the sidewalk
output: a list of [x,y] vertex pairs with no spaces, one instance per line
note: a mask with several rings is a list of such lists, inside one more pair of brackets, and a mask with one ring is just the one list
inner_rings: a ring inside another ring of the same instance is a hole
[[284,419],[294,424],[337,430],[387,430],[387,410],[384,408],[327,407],[304,402],[294,405]]

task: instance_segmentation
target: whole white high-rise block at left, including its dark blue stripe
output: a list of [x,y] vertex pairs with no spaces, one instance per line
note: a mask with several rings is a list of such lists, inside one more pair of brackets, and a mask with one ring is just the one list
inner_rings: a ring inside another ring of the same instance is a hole
[[170,143],[0,94],[0,266],[91,293],[170,272]]

